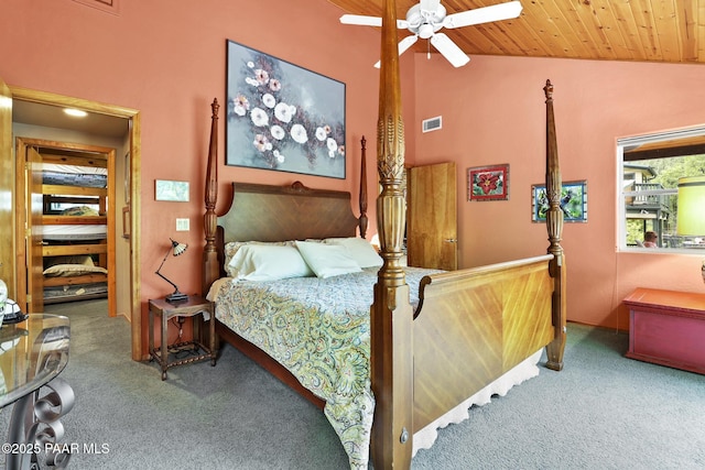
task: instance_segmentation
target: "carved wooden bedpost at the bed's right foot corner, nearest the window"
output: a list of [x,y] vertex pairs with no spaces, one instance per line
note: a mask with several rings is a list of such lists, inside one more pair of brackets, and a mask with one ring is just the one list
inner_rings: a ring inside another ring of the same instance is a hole
[[563,233],[563,211],[561,210],[561,168],[558,167],[558,150],[555,138],[555,118],[553,114],[553,85],[546,80],[543,88],[546,95],[546,196],[549,212],[546,230],[549,231],[549,253],[553,254],[550,264],[554,278],[553,289],[553,326],[555,339],[546,346],[546,368],[560,371],[563,369],[563,351],[565,350],[565,255],[561,247]]

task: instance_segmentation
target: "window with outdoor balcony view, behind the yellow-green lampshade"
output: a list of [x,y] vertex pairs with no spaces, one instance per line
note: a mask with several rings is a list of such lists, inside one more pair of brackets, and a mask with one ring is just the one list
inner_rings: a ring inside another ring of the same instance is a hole
[[620,139],[617,155],[619,249],[641,250],[653,232],[660,249],[705,252],[705,233],[676,234],[679,178],[705,174],[705,127]]

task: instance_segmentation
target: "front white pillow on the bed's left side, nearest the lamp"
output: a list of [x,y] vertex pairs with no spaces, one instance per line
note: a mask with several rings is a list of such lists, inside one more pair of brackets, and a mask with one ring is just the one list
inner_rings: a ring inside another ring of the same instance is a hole
[[246,244],[230,261],[237,277],[249,281],[276,281],[312,276],[313,272],[294,247]]

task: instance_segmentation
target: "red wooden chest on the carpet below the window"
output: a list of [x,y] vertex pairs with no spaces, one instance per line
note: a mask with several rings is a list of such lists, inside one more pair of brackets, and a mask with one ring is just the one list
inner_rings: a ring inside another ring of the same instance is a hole
[[627,357],[705,374],[705,294],[637,288]]

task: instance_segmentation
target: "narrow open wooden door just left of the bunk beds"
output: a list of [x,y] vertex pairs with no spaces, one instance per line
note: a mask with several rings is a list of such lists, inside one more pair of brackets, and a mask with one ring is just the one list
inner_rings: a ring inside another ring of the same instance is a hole
[[33,146],[26,147],[26,287],[28,313],[44,311],[44,262],[42,255],[42,155]]

